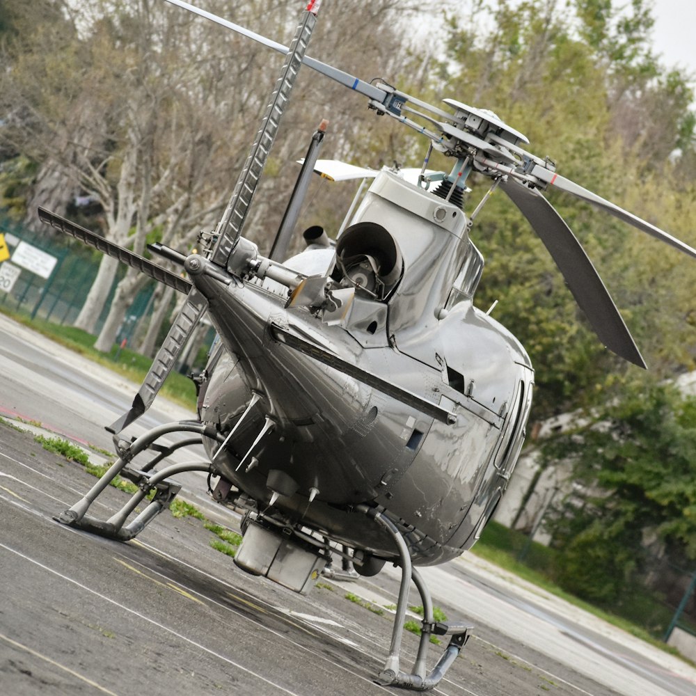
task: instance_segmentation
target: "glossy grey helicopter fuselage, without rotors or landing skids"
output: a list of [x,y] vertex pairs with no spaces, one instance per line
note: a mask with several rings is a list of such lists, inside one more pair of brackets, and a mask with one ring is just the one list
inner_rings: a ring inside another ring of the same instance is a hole
[[[344,232],[350,242],[358,229],[351,258],[379,258],[379,239],[359,233],[361,224],[379,225],[390,235],[386,246],[400,251],[398,278],[383,297],[362,278],[340,320],[286,307],[287,289],[274,281],[194,278],[221,338],[200,390],[200,418],[223,433],[234,429],[224,448],[205,444],[221,475],[260,509],[278,493],[274,509],[293,523],[393,557],[388,536],[352,512],[377,504],[405,532],[414,562],[444,562],[473,544],[505,490],[523,441],[532,368],[512,334],[473,306],[482,259],[458,207],[384,172],[352,223]],[[284,265],[300,274],[323,267],[317,275],[327,280],[356,277],[338,269],[331,248],[310,248]],[[336,362],[317,361],[312,348]],[[342,369],[348,364],[358,378]],[[360,374],[379,374],[420,402]]]

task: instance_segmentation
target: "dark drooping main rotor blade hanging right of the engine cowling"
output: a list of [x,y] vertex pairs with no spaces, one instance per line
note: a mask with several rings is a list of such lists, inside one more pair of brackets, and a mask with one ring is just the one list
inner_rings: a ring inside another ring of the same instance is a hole
[[647,367],[592,261],[553,205],[539,191],[514,179],[501,181],[500,188],[544,242],[599,340],[618,356]]

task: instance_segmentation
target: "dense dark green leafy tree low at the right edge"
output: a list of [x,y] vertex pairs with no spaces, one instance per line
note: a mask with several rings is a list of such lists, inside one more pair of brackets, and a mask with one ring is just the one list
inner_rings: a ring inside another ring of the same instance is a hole
[[640,580],[646,543],[696,560],[696,397],[635,381],[583,427],[541,445],[543,466],[571,467],[574,491],[548,526],[559,580],[612,603]]

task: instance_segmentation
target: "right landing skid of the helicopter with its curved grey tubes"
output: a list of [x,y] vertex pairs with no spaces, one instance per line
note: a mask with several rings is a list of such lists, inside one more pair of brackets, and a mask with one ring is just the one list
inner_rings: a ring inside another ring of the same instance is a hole
[[[399,550],[402,569],[399,601],[394,617],[394,628],[389,647],[389,656],[381,672],[379,672],[377,681],[382,686],[398,686],[416,691],[428,691],[435,688],[445,676],[445,672],[447,672],[455,658],[457,658],[459,651],[466,645],[473,626],[465,622],[436,622],[433,615],[433,603],[430,592],[418,571],[411,564],[409,548],[406,546],[406,541],[402,533],[390,519],[382,514],[379,508],[358,505],[356,510],[374,519],[375,522],[390,533]],[[413,664],[413,672],[409,674],[408,672],[402,672],[400,670],[399,654],[404,633],[406,608],[409,604],[409,584],[411,580],[413,580],[420,594],[423,606],[423,621],[420,643],[418,644],[418,655],[416,656],[416,662]],[[450,635],[451,638],[448,646],[445,648],[443,656],[438,660],[438,663],[433,667],[430,674],[426,674],[427,667],[425,659],[429,647],[430,636],[433,634]]]

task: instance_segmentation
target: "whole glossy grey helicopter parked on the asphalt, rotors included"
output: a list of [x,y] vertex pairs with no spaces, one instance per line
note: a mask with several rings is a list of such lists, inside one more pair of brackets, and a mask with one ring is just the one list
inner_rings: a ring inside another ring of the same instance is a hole
[[[447,562],[480,537],[514,471],[532,403],[528,354],[473,303],[484,260],[470,231],[489,194],[500,189],[521,210],[599,340],[640,367],[643,358],[610,294],[543,191],[555,187],[592,203],[694,258],[696,250],[562,177],[493,111],[450,98],[443,108],[427,104],[310,58],[316,0],[302,11],[290,47],[182,0],[166,1],[284,54],[285,61],[216,230],[201,235],[188,255],[150,246],[188,278],[39,209],[43,222],[185,295],[132,407],[107,427],[118,459],[56,519],[128,541],[180,491],[172,477],[207,473],[212,498],[244,511],[235,556],[244,571],[306,593],[332,555],[360,576],[374,576],[386,562],[401,567],[388,658],[377,681],[432,689],[472,626],[435,620],[416,566]],[[264,256],[242,232],[302,66],[367,98],[377,115],[416,129],[428,142],[427,154],[415,176],[388,168],[350,173],[349,166],[319,162],[319,127]],[[427,168],[434,150],[452,159],[451,171]],[[315,171],[336,177],[339,169],[344,177],[372,180],[364,194],[358,191],[345,228],[335,242],[322,228],[309,228],[306,249],[283,258],[310,177]],[[491,188],[465,214],[472,173],[487,177]],[[122,435],[155,400],[204,316],[216,340],[205,370],[193,377],[198,418],[159,425],[137,438]],[[184,438],[158,443],[171,434]],[[158,468],[175,450],[197,444],[207,461]],[[136,467],[134,459],[148,452],[154,456]],[[107,520],[88,514],[116,475],[136,482],[139,491]],[[416,663],[404,671],[400,652],[411,582],[424,617]],[[428,671],[433,634],[450,640]]]

